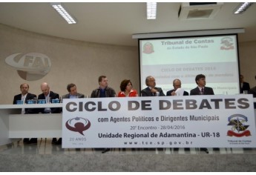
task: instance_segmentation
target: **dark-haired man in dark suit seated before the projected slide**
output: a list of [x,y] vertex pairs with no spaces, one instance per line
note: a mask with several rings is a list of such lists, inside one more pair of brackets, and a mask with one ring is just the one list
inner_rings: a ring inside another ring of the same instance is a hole
[[195,79],[197,87],[190,90],[190,95],[214,95],[214,91],[211,87],[206,87],[206,76],[199,74]]

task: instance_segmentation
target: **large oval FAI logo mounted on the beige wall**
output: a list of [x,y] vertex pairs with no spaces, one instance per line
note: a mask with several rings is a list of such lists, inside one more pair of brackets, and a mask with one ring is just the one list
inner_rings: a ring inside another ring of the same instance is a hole
[[51,67],[49,57],[42,53],[15,53],[7,56],[5,62],[27,81],[42,79],[50,72]]

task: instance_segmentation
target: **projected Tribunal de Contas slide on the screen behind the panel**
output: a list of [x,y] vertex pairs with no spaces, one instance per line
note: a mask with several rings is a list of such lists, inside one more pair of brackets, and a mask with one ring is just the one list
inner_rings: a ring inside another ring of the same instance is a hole
[[197,87],[195,76],[206,76],[206,86],[215,94],[238,94],[237,36],[200,36],[180,39],[140,40],[140,82],[154,76],[164,93],[173,89],[174,79],[190,93]]

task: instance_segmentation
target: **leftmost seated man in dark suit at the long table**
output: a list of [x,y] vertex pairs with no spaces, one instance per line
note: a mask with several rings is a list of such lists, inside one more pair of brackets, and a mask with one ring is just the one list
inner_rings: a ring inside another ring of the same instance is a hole
[[[17,100],[22,100],[23,103],[27,103],[27,100],[30,99],[35,99],[36,100],[36,95],[33,93],[28,93],[28,90],[30,88],[30,86],[27,83],[23,83],[22,85],[20,85],[20,90],[22,93],[14,96],[13,98],[13,105],[17,104]],[[38,113],[36,108],[22,108],[21,110],[22,114],[27,114],[27,113]],[[23,139],[24,143],[37,143],[37,139],[36,138],[24,138]]]

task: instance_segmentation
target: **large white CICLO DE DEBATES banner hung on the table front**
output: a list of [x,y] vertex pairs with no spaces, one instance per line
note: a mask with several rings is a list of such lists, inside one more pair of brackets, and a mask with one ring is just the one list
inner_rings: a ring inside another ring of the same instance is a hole
[[256,148],[252,95],[63,99],[62,148]]

